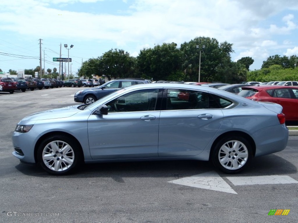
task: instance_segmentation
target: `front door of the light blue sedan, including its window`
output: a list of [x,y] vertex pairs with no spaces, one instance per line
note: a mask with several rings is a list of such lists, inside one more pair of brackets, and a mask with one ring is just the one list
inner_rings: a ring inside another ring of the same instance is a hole
[[90,115],[88,139],[92,159],[158,156],[158,92],[159,89],[142,89],[127,93],[106,103],[107,115]]

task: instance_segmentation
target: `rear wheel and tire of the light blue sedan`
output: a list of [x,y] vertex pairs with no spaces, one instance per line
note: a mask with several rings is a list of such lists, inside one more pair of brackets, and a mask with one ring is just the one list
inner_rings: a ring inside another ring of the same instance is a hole
[[242,171],[252,159],[252,147],[242,136],[228,136],[214,146],[212,163],[225,173]]

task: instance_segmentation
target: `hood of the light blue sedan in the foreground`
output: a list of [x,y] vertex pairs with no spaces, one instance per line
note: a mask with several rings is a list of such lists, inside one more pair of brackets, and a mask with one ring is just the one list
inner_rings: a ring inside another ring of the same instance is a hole
[[80,105],[73,105],[73,106],[67,106],[64,108],[60,109],[52,109],[52,110],[47,110],[44,112],[37,112],[34,114],[31,114],[25,118],[22,119],[22,121],[28,121],[28,120],[46,120],[46,119],[55,119],[55,118],[66,118],[70,117],[74,114],[77,114],[80,112],[77,107]]

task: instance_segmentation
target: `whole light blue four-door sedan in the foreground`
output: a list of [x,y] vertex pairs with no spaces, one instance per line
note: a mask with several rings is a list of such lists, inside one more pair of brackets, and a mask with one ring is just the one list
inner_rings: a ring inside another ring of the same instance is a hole
[[[173,91],[180,96],[170,98]],[[137,84],[92,104],[23,118],[13,133],[13,155],[54,175],[83,162],[179,159],[211,160],[236,173],[254,156],[286,147],[284,123],[275,103],[191,84]]]

